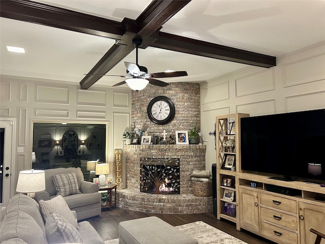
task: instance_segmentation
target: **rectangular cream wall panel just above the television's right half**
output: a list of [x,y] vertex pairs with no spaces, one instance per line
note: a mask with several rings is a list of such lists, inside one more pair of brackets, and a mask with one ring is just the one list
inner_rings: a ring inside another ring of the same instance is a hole
[[325,91],[285,98],[286,112],[325,108]]

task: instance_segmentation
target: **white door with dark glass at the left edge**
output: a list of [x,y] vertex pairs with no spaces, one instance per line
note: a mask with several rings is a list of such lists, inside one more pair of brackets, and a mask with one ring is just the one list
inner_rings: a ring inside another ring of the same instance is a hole
[[7,205],[12,190],[11,172],[14,156],[14,120],[0,119],[0,207]]

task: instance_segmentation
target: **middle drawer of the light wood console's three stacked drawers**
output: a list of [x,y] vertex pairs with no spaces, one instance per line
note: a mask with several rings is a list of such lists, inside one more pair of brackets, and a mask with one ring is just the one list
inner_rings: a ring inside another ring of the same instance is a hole
[[286,215],[269,208],[261,207],[261,219],[297,230],[297,217]]

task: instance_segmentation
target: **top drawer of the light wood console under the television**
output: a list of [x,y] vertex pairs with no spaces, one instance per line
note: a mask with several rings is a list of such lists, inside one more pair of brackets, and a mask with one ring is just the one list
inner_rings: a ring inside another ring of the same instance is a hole
[[260,202],[261,202],[261,205],[274,207],[274,208],[281,209],[281,210],[284,210],[287,212],[292,212],[293,214],[296,214],[296,212],[297,212],[295,200],[261,193]]

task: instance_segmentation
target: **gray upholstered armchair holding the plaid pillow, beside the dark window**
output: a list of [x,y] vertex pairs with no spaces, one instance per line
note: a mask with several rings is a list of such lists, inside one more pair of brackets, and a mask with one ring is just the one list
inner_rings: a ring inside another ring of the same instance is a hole
[[84,177],[80,168],[56,168],[46,169],[45,171],[45,192],[36,193],[35,200],[49,200],[56,196],[56,189],[53,183],[52,175],[76,172],[78,186],[81,193],[64,196],[64,200],[68,203],[71,210],[75,210],[77,220],[101,215],[101,193],[99,186],[89,181],[84,181]]

